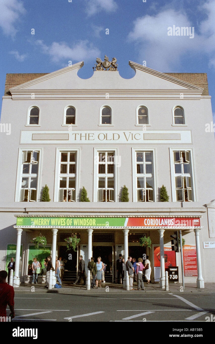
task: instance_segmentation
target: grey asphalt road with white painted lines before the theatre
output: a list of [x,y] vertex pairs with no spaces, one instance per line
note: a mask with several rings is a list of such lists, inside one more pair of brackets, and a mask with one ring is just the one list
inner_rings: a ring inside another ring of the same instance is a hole
[[[215,315],[214,293],[16,293],[17,322],[205,322]],[[7,315],[10,310],[7,309]],[[215,320],[215,317],[214,317]]]

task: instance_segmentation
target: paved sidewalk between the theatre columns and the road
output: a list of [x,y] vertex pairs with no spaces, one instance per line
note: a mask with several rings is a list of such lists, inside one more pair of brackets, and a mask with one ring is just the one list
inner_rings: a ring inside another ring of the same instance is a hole
[[[31,287],[34,287],[34,291]],[[106,288],[109,287],[109,288]],[[150,283],[144,284],[145,290],[144,292],[156,292],[156,293],[181,293],[182,287],[179,283],[170,283],[169,290],[165,291],[159,287],[159,283]],[[137,291],[137,285],[134,283],[133,290],[124,290],[122,284],[112,284],[112,283],[102,283],[102,288],[98,289],[90,289],[86,290],[86,287],[83,284],[79,286],[73,286],[71,283],[62,283],[62,288],[57,289],[53,288],[52,290],[47,290],[44,288],[44,284],[25,284],[21,283],[19,288],[14,288],[15,293],[59,293],[59,294],[80,294],[80,293],[103,293],[103,292],[110,292],[110,293],[140,293]],[[205,283],[204,289],[196,288],[196,283],[185,283],[185,290],[184,293],[214,293],[215,292],[215,283]],[[143,293],[143,291],[142,291]]]

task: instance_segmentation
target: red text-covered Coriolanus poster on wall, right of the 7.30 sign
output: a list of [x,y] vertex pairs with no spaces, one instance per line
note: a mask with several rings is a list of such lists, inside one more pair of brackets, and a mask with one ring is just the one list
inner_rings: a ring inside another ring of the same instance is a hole
[[197,277],[196,245],[184,245],[184,277]]

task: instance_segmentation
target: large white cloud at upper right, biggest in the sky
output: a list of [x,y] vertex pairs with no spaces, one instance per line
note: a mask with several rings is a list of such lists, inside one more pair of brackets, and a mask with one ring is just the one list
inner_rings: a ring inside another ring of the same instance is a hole
[[[214,65],[215,50],[215,0],[205,3],[202,12],[207,18],[195,27],[183,11],[174,9],[162,10],[156,15],[145,15],[134,21],[133,30],[129,33],[129,41],[133,41],[139,50],[139,58],[146,61],[146,66],[162,72],[173,71],[180,67],[182,57],[186,54],[208,54],[210,65]],[[180,28],[194,26],[194,38],[189,36],[168,36],[167,28],[173,25]],[[199,31],[197,30],[199,29]],[[198,32],[198,33],[197,33]]]

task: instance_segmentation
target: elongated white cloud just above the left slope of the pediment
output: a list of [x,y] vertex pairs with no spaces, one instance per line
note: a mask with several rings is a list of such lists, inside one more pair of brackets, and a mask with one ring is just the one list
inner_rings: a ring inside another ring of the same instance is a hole
[[87,61],[100,55],[100,50],[87,40],[79,41],[73,44],[72,47],[65,42],[53,42],[50,46],[44,44],[41,40],[37,40],[35,43],[41,47],[44,54],[51,56],[52,61],[56,63],[65,58],[71,60],[72,63],[73,61]]

